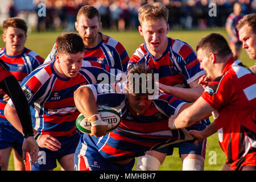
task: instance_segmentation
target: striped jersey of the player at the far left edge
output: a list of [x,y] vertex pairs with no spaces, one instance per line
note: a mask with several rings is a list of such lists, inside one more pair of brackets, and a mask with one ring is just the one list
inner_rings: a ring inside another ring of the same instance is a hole
[[[44,59],[41,56],[28,48],[24,48],[23,53],[18,56],[9,56],[6,53],[5,47],[1,48],[0,59],[3,60],[10,68],[11,74],[19,83],[22,82],[24,77],[29,75],[34,69],[44,62]],[[6,102],[3,101],[4,94],[5,93],[0,95],[0,122],[9,123],[3,114],[3,110],[6,105]]]

